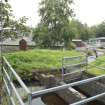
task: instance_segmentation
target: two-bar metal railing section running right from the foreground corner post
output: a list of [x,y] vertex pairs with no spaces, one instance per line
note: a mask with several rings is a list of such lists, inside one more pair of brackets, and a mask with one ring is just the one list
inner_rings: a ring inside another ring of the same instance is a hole
[[[81,80],[81,81],[77,81],[77,82],[73,82],[73,83],[58,86],[58,87],[53,87],[53,88],[50,88],[50,89],[45,89],[45,90],[33,92],[32,97],[40,97],[40,96],[43,96],[43,95],[51,93],[51,92],[61,91],[61,90],[67,89],[67,88],[72,87],[72,86],[83,85],[83,84],[93,82],[93,81],[96,81],[96,80],[99,80],[99,79],[102,79],[102,78],[105,78],[105,75],[97,76],[97,77],[93,77],[93,78],[89,78],[89,79],[85,79],[85,80]],[[105,95],[105,92],[101,93],[101,94],[98,94],[96,96],[90,97],[90,98],[86,98],[84,100],[80,100],[80,101],[75,102],[71,105],[82,105],[84,103],[87,103],[87,102],[93,101],[97,98],[100,98],[104,95]]]

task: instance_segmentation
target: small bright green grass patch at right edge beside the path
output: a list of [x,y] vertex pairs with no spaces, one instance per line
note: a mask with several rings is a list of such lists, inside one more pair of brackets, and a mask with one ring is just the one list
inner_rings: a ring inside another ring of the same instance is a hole
[[[94,65],[94,66],[98,66],[100,68],[101,67],[105,68],[105,55],[97,58],[97,60],[92,62],[91,64]],[[105,70],[99,69],[99,68],[96,68],[96,67],[91,67],[91,66],[88,68],[87,72],[92,74],[92,75],[103,75],[103,74],[105,74]]]

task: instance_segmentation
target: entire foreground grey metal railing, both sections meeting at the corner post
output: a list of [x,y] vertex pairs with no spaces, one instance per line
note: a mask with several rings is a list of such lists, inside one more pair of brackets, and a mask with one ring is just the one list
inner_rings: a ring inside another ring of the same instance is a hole
[[[101,76],[96,76],[93,78],[88,78],[88,79],[84,79],[81,81],[77,81],[77,82],[73,82],[73,83],[69,83],[69,84],[65,84],[65,85],[61,85],[61,86],[57,86],[57,87],[53,87],[53,88],[49,88],[49,89],[31,92],[28,89],[28,87],[25,85],[25,83],[21,80],[21,78],[18,76],[18,74],[15,72],[15,70],[11,67],[11,65],[9,64],[9,62],[7,61],[7,59],[5,57],[3,57],[3,60],[2,60],[2,76],[3,76],[3,82],[4,82],[3,87],[5,90],[5,94],[8,97],[8,104],[7,105],[26,105],[23,98],[19,94],[15,84],[13,83],[14,78],[18,81],[20,86],[27,93],[28,105],[33,105],[32,104],[33,98],[41,97],[43,95],[46,95],[47,93],[53,93],[56,91],[61,91],[63,89],[67,89],[69,87],[79,86],[79,85],[83,85],[83,84],[86,84],[89,82],[93,82],[93,81],[105,78],[105,75],[101,75]],[[82,105],[82,104],[96,100],[96,99],[103,97],[103,96],[105,96],[105,92],[98,94],[98,95],[95,95],[95,96],[92,96],[92,97],[89,97],[89,98],[85,98],[85,99],[80,100],[80,101],[77,101],[75,103],[72,103],[71,105]],[[15,98],[17,98],[18,102],[15,101],[16,100]]]

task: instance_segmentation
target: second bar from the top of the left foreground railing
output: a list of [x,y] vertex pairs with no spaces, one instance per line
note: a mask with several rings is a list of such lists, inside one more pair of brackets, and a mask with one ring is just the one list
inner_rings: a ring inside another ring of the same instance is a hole
[[13,85],[13,83],[11,82],[11,80],[10,80],[10,77],[9,77],[8,73],[6,72],[6,70],[5,70],[4,68],[3,68],[3,71],[4,71],[4,73],[5,73],[6,77],[7,77],[8,81],[9,81],[9,83],[10,83],[10,85],[11,85],[11,87],[12,87],[13,91],[15,92],[15,94],[16,94],[16,96],[17,96],[17,98],[18,98],[19,102],[20,102],[20,105],[25,105],[25,104],[24,104],[24,102],[22,101],[22,99],[21,99],[20,95],[18,94],[18,92],[17,92],[17,90],[16,90],[15,86],[14,86],[14,85]]

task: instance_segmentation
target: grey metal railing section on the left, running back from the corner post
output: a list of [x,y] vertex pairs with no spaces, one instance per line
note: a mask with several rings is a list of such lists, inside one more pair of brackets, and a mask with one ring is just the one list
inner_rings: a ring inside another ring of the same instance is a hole
[[[5,57],[3,57],[2,63],[3,63],[2,75],[3,75],[4,89],[5,89],[5,93],[9,98],[8,103],[10,105],[17,105],[17,102],[15,101],[16,100],[15,98],[17,98],[19,105],[25,105],[25,103],[22,100],[22,97],[20,96],[18,90],[16,89],[15,84],[13,83],[13,80],[16,80],[27,93],[27,97],[29,98],[29,105],[30,105],[30,97],[31,97],[30,90],[27,88],[27,86],[24,84],[24,82],[15,72],[15,70],[11,67],[11,65],[9,64],[9,62],[6,60]],[[15,97],[14,97],[14,94],[15,94]]]

